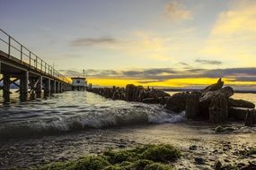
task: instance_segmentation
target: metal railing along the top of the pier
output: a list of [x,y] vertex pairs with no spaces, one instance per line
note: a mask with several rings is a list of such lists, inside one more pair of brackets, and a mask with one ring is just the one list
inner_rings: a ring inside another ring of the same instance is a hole
[[[0,50],[6,53],[10,58],[14,57],[21,64],[27,64],[29,67],[48,74],[60,81],[70,83],[70,80],[57,72],[50,64],[43,61],[38,55],[35,55],[27,47],[24,47],[19,41],[12,38],[4,30],[0,29]],[[3,50],[2,50],[3,48]]]

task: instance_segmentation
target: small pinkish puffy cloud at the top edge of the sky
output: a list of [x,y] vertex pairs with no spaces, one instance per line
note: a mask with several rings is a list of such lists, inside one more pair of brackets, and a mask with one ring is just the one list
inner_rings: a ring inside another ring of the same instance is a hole
[[165,7],[165,16],[171,21],[182,21],[191,19],[192,13],[178,1],[172,1]]

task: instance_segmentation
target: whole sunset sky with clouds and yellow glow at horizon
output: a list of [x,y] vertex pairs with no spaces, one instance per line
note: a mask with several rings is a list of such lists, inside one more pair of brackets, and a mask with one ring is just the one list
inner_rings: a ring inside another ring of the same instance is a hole
[[94,85],[256,89],[254,0],[0,0],[0,28]]

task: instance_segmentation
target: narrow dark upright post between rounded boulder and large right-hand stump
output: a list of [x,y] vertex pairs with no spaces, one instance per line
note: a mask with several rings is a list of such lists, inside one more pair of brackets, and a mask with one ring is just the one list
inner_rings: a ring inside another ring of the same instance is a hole
[[186,115],[189,119],[199,118],[199,93],[192,93],[186,101]]

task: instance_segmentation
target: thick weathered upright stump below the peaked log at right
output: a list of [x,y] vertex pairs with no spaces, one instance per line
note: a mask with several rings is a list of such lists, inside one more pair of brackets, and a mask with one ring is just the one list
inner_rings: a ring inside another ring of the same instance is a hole
[[209,106],[209,122],[222,123],[228,118],[227,99],[224,96],[218,96],[211,101]]

